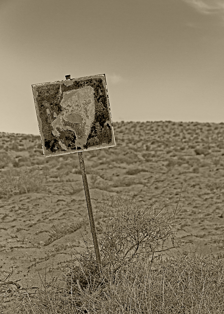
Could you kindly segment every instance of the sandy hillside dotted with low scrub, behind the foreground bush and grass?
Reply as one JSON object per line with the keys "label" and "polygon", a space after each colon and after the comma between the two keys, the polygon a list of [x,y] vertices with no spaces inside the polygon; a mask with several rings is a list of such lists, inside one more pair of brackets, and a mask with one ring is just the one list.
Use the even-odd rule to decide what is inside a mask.
{"label": "sandy hillside dotted with low scrub, behind the foreground bush and grass", "polygon": [[[83,153],[96,230],[105,228],[119,202],[176,208],[181,252],[190,255],[196,246],[198,254],[207,254],[211,246],[215,256],[221,254],[224,123],[115,122],[113,127],[116,147]],[[43,278],[62,278],[84,248],[85,235],[91,239],[78,154],[44,158],[39,136],[0,133],[2,282],[19,280],[31,293]],[[9,304],[13,308],[14,288],[0,287],[3,313]]]}

